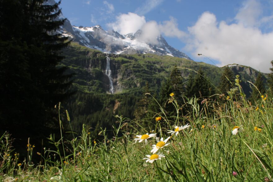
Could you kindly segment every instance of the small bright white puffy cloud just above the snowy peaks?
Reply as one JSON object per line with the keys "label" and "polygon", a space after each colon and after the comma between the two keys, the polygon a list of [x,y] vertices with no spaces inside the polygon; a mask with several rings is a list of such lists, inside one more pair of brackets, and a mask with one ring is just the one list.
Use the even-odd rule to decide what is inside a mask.
{"label": "small bright white puffy cloud just above the snowy peaks", "polygon": [[139,16],[135,13],[129,12],[128,14],[121,14],[116,18],[116,22],[109,23],[108,26],[114,31],[117,31],[123,35],[128,33],[135,33],[141,29],[146,23],[144,16]]}

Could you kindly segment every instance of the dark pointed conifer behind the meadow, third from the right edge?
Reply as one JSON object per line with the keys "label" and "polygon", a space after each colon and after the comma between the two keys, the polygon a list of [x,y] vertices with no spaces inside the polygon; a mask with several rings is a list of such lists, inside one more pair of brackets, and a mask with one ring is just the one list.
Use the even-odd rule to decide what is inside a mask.
{"label": "dark pointed conifer behind the meadow, third from the right edge", "polygon": [[235,76],[229,67],[225,67],[224,72],[220,78],[220,91],[224,94],[230,91],[235,85]]}

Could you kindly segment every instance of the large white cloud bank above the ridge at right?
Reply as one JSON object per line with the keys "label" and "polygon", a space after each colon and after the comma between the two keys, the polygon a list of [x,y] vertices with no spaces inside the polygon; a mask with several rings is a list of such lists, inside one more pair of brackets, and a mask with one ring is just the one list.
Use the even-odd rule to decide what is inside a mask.
{"label": "large white cloud bank above the ridge at right", "polygon": [[[252,0],[249,2],[253,3]],[[192,38],[186,48],[195,55],[201,53],[219,60],[220,66],[237,63],[268,73],[273,60],[273,32],[262,33],[255,27],[257,12],[253,11],[254,19],[244,19],[246,16],[242,16],[242,12],[243,9],[239,10],[238,22],[233,24],[218,23],[213,13],[204,12],[195,25],[188,28]]]}

